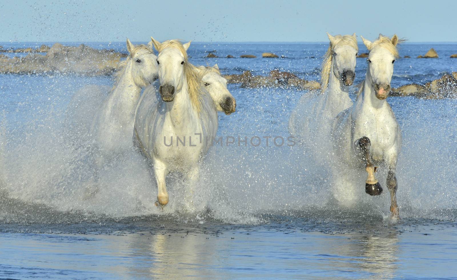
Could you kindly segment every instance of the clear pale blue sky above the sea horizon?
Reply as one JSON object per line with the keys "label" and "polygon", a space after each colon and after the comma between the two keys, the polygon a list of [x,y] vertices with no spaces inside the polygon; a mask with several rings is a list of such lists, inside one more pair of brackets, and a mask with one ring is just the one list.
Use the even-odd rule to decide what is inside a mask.
{"label": "clear pale blue sky above the sea horizon", "polygon": [[457,1],[2,1],[0,42],[326,42],[325,32],[457,42]]}

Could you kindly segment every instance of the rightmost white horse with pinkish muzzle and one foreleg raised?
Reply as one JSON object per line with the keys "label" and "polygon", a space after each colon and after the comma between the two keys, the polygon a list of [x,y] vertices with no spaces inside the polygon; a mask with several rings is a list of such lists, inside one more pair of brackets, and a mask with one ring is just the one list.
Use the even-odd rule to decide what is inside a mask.
{"label": "rightmost white horse with pinkish muzzle and one foreleg raised", "polygon": [[[400,127],[392,108],[386,101],[390,91],[393,74],[393,63],[399,57],[397,44],[399,38],[379,35],[370,42],[362,37],[363,43],[370,51],[367,58],[367,74],[359,91],[355,104],[341,112],[333,127],[335,152],[341,162],[334,174],[335,197],[341,202],[351,200],[350,189],[345,184],[350,169],[367,171],[365,191],[369,195],[380,195],[383,189],[375,177],[376,163],[388,166],[387,187],[390,191],[390,211],[392,218],[398,218],[397,178],[395,169],[401,146]],[[338,170],[340,169],[340,170]],[[350,183],[348,185],[351,185]]]}

